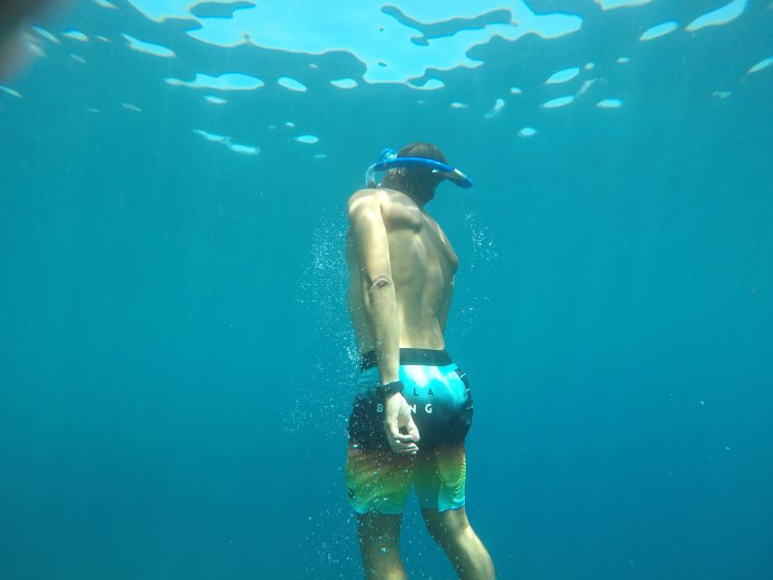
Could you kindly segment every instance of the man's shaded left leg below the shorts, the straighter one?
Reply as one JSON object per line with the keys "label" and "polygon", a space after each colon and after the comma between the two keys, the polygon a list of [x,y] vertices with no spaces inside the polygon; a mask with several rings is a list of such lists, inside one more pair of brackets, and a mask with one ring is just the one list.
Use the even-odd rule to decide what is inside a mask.
{"label": "man's shaded left leg below the shorts, the straighter one", "polygon": [[400,557],[402,516],[372,511],[357,517],[366,580],[405,580]]}

